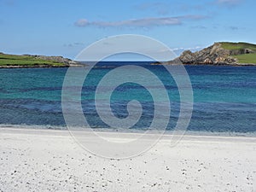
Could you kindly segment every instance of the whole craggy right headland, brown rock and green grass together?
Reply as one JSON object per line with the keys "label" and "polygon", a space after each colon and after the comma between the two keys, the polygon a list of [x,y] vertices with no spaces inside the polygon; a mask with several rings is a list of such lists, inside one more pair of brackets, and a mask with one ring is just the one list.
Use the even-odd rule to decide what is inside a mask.
{"label": "whole craggy right headland, brown rock and green grass together", "polygon": [[180,63],[188,65],[256,66],[256,44],[218,42],[194,53],[185,50],[172,61],[153,64],[173,65]]}

